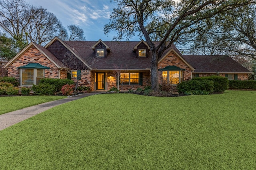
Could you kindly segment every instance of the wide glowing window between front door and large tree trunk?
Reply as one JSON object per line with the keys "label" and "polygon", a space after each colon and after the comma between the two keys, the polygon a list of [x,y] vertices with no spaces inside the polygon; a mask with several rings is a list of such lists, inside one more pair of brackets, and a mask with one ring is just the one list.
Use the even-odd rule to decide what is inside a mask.
{"label": "wide glowing window between front door and large tree trunk", "polygon": [[139,84],[139,73],[138,72],[122,72],[120,73],[120,84]]}

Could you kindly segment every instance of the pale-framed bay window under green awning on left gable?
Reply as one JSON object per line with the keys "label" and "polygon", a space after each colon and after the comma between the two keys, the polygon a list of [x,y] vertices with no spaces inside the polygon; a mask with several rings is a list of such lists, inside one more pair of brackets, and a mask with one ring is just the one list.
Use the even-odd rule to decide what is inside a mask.
{"label": "pale-framed bay window under green awning on left gable", "polygon": [[37,85],[44,78],[43,69],[20,69],[21,86]]}

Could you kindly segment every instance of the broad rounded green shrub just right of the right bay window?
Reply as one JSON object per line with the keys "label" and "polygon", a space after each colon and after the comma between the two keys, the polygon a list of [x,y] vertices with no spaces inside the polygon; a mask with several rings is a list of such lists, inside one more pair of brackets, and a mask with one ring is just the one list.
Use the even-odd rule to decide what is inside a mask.
{"label": "broad rounded green shrub just right of the right bay window", "polygon": [[211,80],[188,80],[177,85],[179,93],[183,94],[211,94],[214,92],[214,82]]}

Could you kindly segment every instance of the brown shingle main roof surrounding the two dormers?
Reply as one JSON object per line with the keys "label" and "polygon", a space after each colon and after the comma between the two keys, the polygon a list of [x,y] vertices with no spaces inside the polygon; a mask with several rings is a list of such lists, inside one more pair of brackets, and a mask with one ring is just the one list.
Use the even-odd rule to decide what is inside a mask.
{"label": "brown shingle main roof surrounding the two dormers", "polygon": [[[95,57],[94,50],[91,48],[97,41],[64,41],[70,48],[75,49],[81,58],[91,66],[90,61]],[[111,49],[106,58],[98,58],[98,61],[91,67],[98,70],[112,70],[112,69],[127,69],[127,70],[149,70],[151,68],[152,52],[150,51],[148,57],[136,57],[133,48],[139,41],[104,41]],[[154,42],[155,45],[158,42]],[[177,53],[180,54],[175,45],[172,45]],[[170,48],[170,49],[171,49]],[[164,56],[169,49],[162,55]],[[181,55],[181,54],[180,54]]]}

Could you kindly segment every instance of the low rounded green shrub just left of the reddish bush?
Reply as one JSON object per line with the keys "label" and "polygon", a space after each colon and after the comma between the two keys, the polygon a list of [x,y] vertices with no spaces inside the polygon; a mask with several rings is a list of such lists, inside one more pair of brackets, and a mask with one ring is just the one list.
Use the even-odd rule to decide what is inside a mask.
{"label": "low rounded green shrub just left of the reddish bush", "polygon": [[34,94],[37,95],[54,95],[56,93],[56,88],[51,84],[41,84],[32,86]]}

